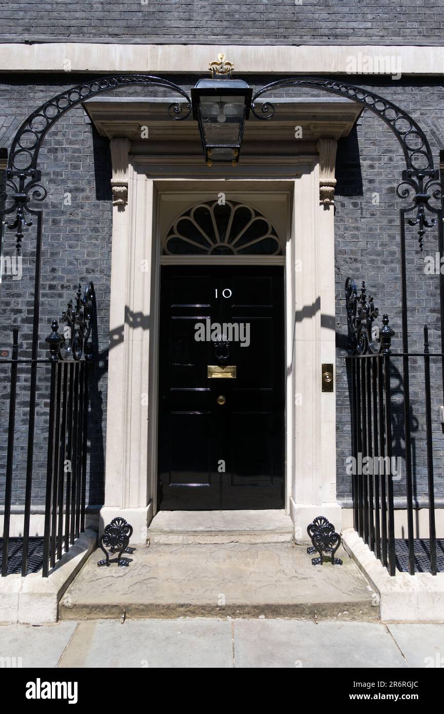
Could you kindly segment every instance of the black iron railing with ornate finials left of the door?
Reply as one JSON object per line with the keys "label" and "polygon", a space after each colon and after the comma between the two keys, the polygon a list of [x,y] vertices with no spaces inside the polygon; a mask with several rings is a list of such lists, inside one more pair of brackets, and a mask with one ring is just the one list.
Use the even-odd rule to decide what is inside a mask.
{"label": "black iron railing with ornate finials left of the door", "polygon": [[[0,548],[2,576],[9,573],[25,576],[41,570],[43,577],[47,577],[56,561],[84,531],[88,387],[93,363],[89,336],[94,313],[94,286],[89,283],[83,297],[79,288],[75,306],[69,303],[62,317],[64,336],[59,334],[59,324],[52,323],[51,335],[46,338],[49,360],[19,358],[17,328],[13,330],[11,359],[0,360],[2,370],[9,373],[4,524]],[[4,373],[4,383],[5,376]],[[49,403],[46,401],[48,394]],[[20,413],[22,422],[25,415],[31,438],[26,438],[17,428],[17,413]],[[46,439],[46,464],[42,463],[42,435]],[[22,481],[24,489],[21,488]],[[36,525],[33,506],[40,510],[44,507],[41,535],[34,534],[41,528]],[[11,516],[17,512],[20,526],[19,529],[14,526],[11,534]],[[30,533],[33,533],[31,537]]]}

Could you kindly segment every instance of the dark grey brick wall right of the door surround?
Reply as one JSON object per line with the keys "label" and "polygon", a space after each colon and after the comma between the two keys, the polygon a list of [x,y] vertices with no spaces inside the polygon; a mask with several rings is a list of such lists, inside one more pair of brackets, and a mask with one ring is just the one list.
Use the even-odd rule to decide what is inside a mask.
{"label": "dark grey brick wall right of the door surround", "polygon": [[[366,86],[356,79],[355,84]],[[373,87],[379,94],[398,104],[418,121],[425,130],[438,166],[439,150],[444,146],[443,84],[418,79],[378,82]],[[343,346],[347,333],[344,284],[350,275],[360,287],[365,280],[368,293],[383,313],[388,313],[395,330],[392,349],[401,351],[400,341],[400,254],[399,209],[405,206],[395,196],[405,164],[397,140],[378,117],[366,111],[355,131],[339,142],[336,164],[338,186],[335,206],[335,273],[336,273],[336,328],[337,366],[337,463],[338,498],[350,498],[350,477],[345,476],[345,458],[350,456],[350,403],[345,373]],[[410,204],[411,205],[411,204]],[[437,231],[425,236],[423,256],[418,250],[416,228],[407,229],[408,318],[410,351],[423,350],[423,326],[430,329],[430,351],[440,352],[440,324],[438,276],[424,274],[424,256],[438,250]],[[443,503],[443,433],[440,428],[439,406],[443,401],[439,361],[432,361],[432,418],[435,455],[435,493]],[[393,433],[394,454],[401,456],[404,449],[403,382],[400,358],[393,358]],[[441,384],[441,387],[440,387]],[[423,362],[410,361],[411,424],[413,443],[413,492],[415,498],[427,493],[425,486],[425,391]],[[405,463],[403,478],[395,483],[395,497],[405,493]]]}

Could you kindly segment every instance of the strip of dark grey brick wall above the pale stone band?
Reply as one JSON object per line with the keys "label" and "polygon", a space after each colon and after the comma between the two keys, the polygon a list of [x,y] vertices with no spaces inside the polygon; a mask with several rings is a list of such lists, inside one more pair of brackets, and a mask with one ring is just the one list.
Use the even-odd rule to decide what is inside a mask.
{"label": "strip of dark grey brick wall above the pale stone band", "polygon": [[1,3],[0,16],[0,35],[17,40],[440,44],[444,28],[438,0],[34,0]]}

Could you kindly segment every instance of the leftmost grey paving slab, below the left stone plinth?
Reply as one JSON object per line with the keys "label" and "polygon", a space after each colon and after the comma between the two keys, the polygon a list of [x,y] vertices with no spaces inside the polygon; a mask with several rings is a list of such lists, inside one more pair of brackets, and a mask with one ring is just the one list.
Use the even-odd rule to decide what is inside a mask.
{"label": "leftmost grey paving slab, below the left stone plinth", "polygon": [[56,667],[69,643],[75,622],[54,625],[1,625],[2,667]]}

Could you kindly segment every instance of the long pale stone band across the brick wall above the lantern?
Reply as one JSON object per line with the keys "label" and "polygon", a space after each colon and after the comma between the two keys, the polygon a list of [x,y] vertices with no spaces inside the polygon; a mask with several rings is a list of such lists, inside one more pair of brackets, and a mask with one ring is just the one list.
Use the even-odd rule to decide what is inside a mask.
{"label": "long pale stone band across the brick wall above the lantern", "polygon": [[[149,72],[203,74],[222,52],[236,74],[444,74],[444,46],[388,44],[122,44],[119,42],[0,42],[0,71]],[[393,67],[390,63],[393,62]],[[354,71],[353,71],[354,66]],[[393,69],[395,71],[393,71]],[[67,80],[69,81],[69,79]],[[396,81],[396,80],[393,80]],[[358,79],[356,79],[358,84]]]}

